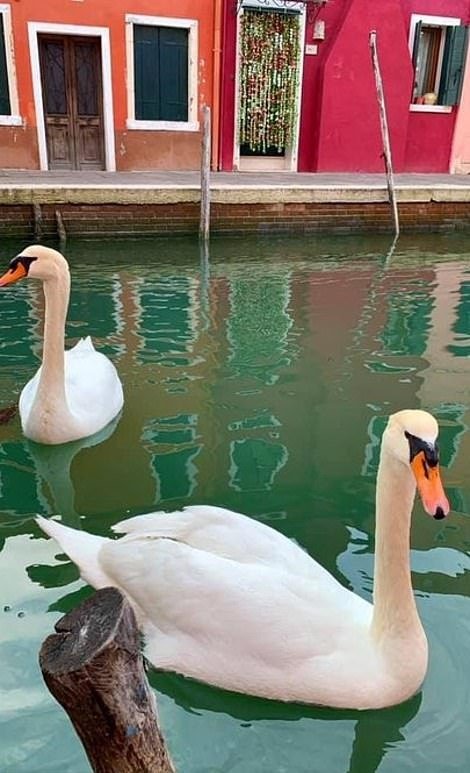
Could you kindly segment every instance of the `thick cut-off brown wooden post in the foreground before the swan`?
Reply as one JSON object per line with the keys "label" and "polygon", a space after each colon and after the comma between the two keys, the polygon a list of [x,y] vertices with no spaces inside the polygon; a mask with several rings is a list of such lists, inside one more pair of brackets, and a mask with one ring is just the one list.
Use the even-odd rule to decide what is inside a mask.
{"label": "thick cut-off brown wooden post in the foreground before the swan", "polygon": [[39,653],[42,675],[95,773],[174,773],[123,594],[97,591],[55,629]]}

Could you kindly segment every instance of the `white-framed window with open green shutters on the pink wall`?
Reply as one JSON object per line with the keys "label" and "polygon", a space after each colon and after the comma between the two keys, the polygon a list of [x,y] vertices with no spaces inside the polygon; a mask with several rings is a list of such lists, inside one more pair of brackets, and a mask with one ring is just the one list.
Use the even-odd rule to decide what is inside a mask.
{"label": "white-framed window with open green shutters on the pink wall", "polygon": [[467,39],[468,28],[460,19],[412,15],[412,109],[448,111],[459,104]]}

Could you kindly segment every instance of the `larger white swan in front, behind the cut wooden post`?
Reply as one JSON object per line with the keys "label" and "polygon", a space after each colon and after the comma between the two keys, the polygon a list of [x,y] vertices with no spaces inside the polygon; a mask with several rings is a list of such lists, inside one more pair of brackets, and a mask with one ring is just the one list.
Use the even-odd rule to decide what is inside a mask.
{"label": "larger white swan in front, behind the cut wooden post", "polygon": [[418,486],[443,518],[437,423],[392,415],[377,478],[374,604],[340,585],[283,535],[218,507],[130,518],[110,540],[38,518],[95,588],[121,588],[157,667],[281,701],[380,708],[415,693],[427,642],[411,586]]}

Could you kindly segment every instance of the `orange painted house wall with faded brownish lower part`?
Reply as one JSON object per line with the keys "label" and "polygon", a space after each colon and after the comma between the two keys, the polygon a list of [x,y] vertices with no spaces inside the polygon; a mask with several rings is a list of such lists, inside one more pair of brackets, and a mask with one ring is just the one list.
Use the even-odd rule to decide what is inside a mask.
{"label": "orange painted house wall with faded brownish lower part", "polygon": [[[28,22],[52,22],[108,27],[114,102],[116,168],[197,169],[199,132],[161,132],[126,129],[126,14],[196,19],[198,24],[199,111],[212,103],[214,0],[13,0],[11,3],[14,54],[20,115],[24,128],[0,127],[0,167],[37,168],[37,120],[28,43]],[[15,137],[13,138],[13,134]],[[16,152],[9,161],[8,147]],[[34,143],[34,146],[32,146]]]}

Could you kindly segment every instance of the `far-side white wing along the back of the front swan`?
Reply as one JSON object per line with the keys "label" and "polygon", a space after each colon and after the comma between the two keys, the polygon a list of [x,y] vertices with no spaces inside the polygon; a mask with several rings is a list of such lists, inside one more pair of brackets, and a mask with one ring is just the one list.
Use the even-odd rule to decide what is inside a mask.
{"label": "far-side white wing along the back of the front swan", "polygon": [[295,575],[336,580],[302,548],[254,518],[210,505],[191,505],[173,513],[148,513],[120,521],[114,531],[128,540],[168,537],[240,563],[266,564]]}

